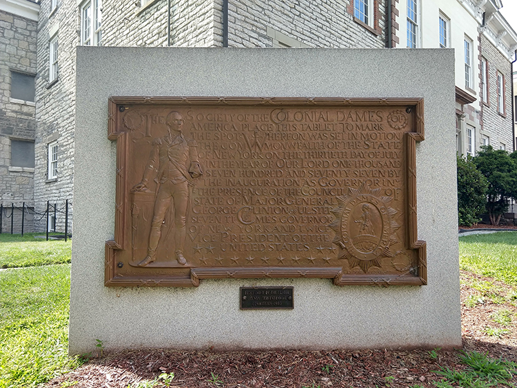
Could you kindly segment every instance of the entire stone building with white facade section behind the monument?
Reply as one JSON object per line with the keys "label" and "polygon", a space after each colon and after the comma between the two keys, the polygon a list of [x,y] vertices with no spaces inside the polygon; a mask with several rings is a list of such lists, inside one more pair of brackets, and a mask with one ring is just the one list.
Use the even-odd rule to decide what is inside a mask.
{"label": "entire stone building with white facade section behind the monument", "polygon": [[[1,170],[0,164],[0,173],[16,172],[14,180],[19,178],[19,182],[28,179],[36,212],[45,212],[48,201],[57,204],[58,211],[51,212],[48,223],[50,229],[60,232],[64,230],[65,201],[72,200],[78,45],[455,48],[458,152],[474,154],[483,143],[514,149],[510,62],[517,35],[500,16],[499,0],[40,0],[39,4],[0,0],[0,4],[13,1],[34,8],[32,20],[25,19],[31,33],[37,27],[37,47],[26,53],[32,58],[26,67],[2,63],[6,69],[1,68],[0,77],[11,70],[35,74],[35,98],[13,104],[6,90],[10,84],[2,81],[0,114],[14,106],[25,114],[30,111],[37,125],[32,134],[4,136],[2,130],[0,163],[8,159],[4,157],[6,144],[14,138],[15,142],[34,140],[35,158],[33,167],[19,167],[21,171],[9,171],[8,167],[15,167],[10,165]],[[4,12],[1,17],[8,19],[1,19],[0,25],[6,31],[0,35],[5,35],[5,41],[20,26],[10,16],[12,10],[0,9]],[[38,14],[37,21],[34,14]],[[34,49],[34,44],[30,48]],[[145,68],[141,71],[145,76]],[[164,64],[164,71],[174,70]],[[174,94],[171,85],[170,95]],[[4,191],[14,192],[10,188]],[[44,230],[46,218],[38,216],[34,223]]]}

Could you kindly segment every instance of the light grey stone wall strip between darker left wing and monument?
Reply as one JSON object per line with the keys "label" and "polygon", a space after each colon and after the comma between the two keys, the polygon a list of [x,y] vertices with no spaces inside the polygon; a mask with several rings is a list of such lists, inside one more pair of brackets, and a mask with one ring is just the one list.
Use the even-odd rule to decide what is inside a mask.
{"label": "light grey stone wall strip between darker left wing and monument", "polygon": [[[50,0],[41,1],[37,44],[36,119],[37,136],[34,172],[34,207],[46,210],[50,203],[72,199],[74,182],[75,130],[75,48],[79,45],[79,6],[76,0],[58,0],[51,13]],[[49,83],[50,34],[58,37],[58,76]],[[53,35],[54,36],[54,35]],[[57,178],[48,179],[48,144],[57,141]],[[34,221],[37,231],[45,230],[46,218]],[[64,229],[64,217],[57,217],[57,229]]]}

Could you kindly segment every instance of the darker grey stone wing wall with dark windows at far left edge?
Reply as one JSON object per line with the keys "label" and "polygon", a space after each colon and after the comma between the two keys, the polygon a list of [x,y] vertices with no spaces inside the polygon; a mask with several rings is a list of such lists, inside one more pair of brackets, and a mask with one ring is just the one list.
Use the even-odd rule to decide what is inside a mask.
{"label": "darker grey stone wing wall with dark windows at far left edge", "polygon": [[[37,22],[0,11],[0,203],[32,206],[34,168],[11,165],[11,140],[34,141],[34,102],[12,99],[11,72],[36,74]],[[27,229],[28,230],[28,229]],[[28,230],[29,231],[29,230]]]}

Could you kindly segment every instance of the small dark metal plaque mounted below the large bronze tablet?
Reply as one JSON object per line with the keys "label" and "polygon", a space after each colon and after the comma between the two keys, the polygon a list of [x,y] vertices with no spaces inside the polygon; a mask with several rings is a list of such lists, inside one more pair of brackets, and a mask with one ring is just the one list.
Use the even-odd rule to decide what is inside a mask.
{"label": "small dark metal plaque mounted below the large bronze tablet", "polygon": [[241,287],[241,310],[292,309],[293,287]]}

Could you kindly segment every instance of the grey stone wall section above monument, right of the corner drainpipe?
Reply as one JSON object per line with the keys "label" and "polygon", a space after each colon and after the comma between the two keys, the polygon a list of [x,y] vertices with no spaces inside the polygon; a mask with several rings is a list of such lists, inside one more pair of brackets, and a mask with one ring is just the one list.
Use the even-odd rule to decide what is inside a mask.
{"label": "grey stone wall section above monument, right of the corner drainpipe", "polygon": [[383,48],[385,1],[374,1],[375,32],[355,22],[352,0],[228,0],[228,46],[272,47],[267,27],[314,48]]}

